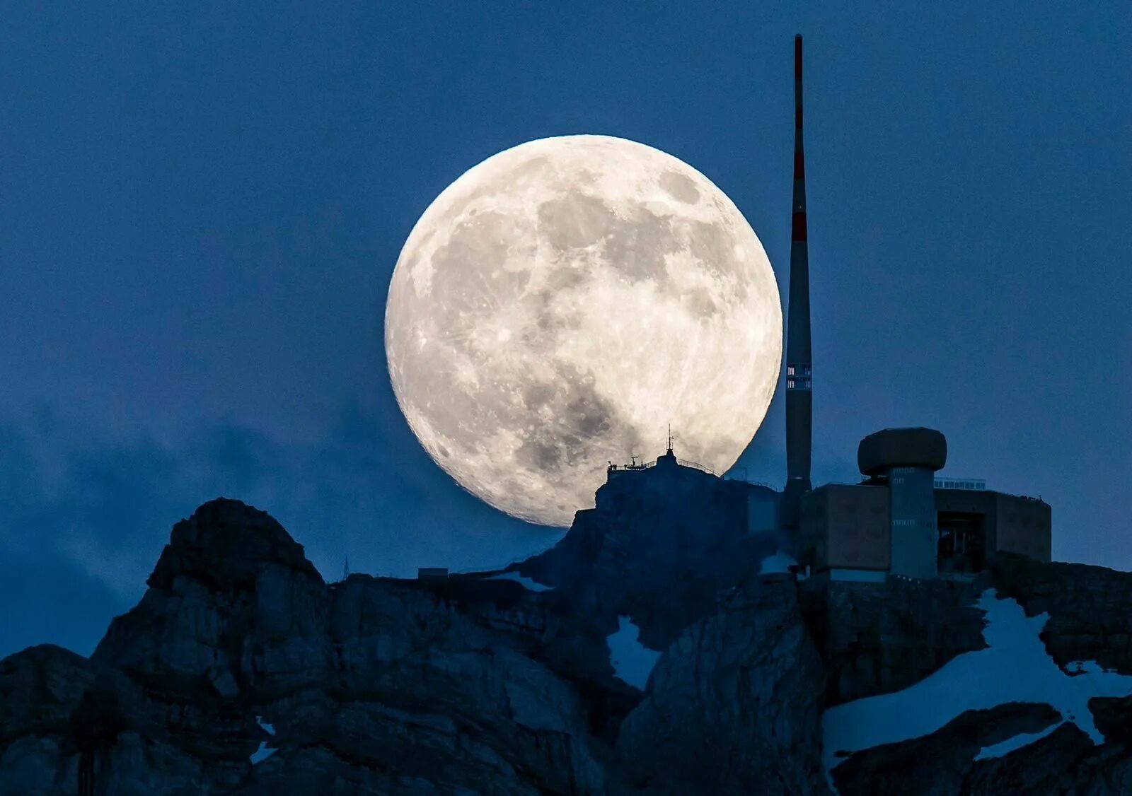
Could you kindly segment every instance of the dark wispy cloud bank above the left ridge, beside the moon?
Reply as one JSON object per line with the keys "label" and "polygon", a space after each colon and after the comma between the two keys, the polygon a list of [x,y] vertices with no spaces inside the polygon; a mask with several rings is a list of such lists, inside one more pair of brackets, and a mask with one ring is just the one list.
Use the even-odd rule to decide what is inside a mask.
{"label": "dark wispy cloud bank above the left ridge, beside the moon", "polygon": [[50,413],[0,425],[0,604],[16,615],[0,655],[91,651],[140,597],[172,525],[218,495],[276,517],[328,579],[346,555],[353,571],[411,576],[503,565],[558,538],[464,493],[408,434],[358,406],[301,443],[229,422],[175,443],[100,440]]}

